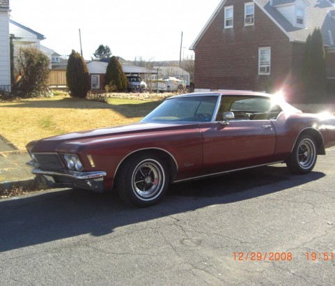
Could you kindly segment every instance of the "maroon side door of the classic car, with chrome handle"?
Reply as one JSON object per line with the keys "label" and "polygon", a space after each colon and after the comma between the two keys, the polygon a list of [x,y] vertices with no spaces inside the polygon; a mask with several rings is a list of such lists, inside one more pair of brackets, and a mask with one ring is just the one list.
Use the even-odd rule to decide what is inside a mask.
{"label": "maroon side door of the classic car, with chrome handle", "polygon": [[[233,104],[228,106],[230,111],[234,110]],[[235,110],[236,114],[238,112]],[[203,174],[272,163],[276,146],[272,119],[264,119],[262,116],[249,119],[251,113],[248,110],[243,113],[246,114],[245,118],[233,119],[226,125],[218,121],[201,124]]]}

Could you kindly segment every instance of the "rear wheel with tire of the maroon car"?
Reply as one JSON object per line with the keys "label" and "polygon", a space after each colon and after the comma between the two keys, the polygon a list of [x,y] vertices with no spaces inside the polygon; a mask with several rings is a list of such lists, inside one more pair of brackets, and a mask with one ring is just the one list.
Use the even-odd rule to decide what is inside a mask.
{"label": "rear wheel with tire of the maroon car", "polygon": [[298,138],[286,165],[295,174],[306,174],[313,170],[318,157],[315,141],[309,135]]}

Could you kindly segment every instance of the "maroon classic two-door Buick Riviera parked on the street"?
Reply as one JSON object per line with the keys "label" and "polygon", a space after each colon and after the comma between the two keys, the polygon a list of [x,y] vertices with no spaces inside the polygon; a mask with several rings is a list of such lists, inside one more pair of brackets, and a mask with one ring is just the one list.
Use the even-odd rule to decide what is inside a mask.
{"label": "maroon classic two-door Buick Riviera parked on the street", "polygon": [[[286,163],[311,172],[335,144],[335,117],[304,114],[279,96],[247,91],[173,96],[139,123],[33,141],[33,174],[51,187],[115,188],[135,206],[169,183]],[[205,192],[205,190],[203,190]]]}

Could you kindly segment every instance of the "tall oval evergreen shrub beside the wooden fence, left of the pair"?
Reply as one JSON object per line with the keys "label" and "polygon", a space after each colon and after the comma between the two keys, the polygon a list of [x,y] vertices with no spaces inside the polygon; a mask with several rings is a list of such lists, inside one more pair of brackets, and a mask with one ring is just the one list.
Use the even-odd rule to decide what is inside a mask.
{"label": "tall oval evergreen shrub beside the wooden fence, left of the pair", "polygon": [[81,54],[72,50],[66,68],[66,83],[70,96],[85,98],[90,90],[90,75]]}

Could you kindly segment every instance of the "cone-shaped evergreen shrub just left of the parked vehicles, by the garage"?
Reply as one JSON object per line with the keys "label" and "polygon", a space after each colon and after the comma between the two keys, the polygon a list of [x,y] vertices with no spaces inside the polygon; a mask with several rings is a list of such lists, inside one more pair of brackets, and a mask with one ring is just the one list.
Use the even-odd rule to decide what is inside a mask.
{"label": "cone-shaped evergreen shrub just left of the parked vehicles, by the garage", "polygon": [[109,59],[106,70],[106,85],[115,86],[116,91],[125,91],[127,89],[127,77],[123,73],[122,66],[115,56]]}

